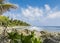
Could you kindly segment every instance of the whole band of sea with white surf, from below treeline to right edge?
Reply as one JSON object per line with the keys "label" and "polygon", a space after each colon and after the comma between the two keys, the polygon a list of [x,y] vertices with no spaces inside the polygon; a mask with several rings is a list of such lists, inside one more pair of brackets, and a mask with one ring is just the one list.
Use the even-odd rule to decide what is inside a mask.
{"label": "whole band of sea with white surf, from below treeline to right edge", "polygon": [[16,29],[29,29],[37,31],[60,32],[60,26],[18,26]]}

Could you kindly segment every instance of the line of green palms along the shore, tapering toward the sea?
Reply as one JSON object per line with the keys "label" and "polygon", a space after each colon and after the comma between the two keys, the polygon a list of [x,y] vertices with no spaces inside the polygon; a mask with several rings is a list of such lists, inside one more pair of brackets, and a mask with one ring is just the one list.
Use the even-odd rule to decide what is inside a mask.
{"label": "line of green palms along the shore, tapering toward the sea", "polygon": [[6,16],[0,16],[0,25],[1,26],[30,26],[26,22],[9,19],[9,17]]}

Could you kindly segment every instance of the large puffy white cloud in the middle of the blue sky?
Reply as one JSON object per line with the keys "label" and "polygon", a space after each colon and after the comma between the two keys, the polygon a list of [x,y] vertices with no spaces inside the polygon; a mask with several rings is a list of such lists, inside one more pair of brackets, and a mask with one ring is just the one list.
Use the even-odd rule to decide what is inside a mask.
{"label": "large puffy white cloud in the middle of the blue sky", "polygon": [[37,7],[34,8],[34,7],[29,6],[26,9],[22,9],[22,14],[27,18],[35,19],[35,17],[43,16],[43,10]]}

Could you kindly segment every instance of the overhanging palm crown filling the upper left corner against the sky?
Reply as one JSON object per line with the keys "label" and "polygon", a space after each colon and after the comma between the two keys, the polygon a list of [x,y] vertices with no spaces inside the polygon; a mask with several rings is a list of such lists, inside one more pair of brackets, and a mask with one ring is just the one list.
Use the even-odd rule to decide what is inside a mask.
{"label": "overhanging palm crown filling the upper left corner against the sky", "polygon": [[11,8],[16,9],[17,6],[15,6],[14,4],[10,4],[10,3],[5,3],[5,0],[0,0],[0,15],[2,15],[3,13],[10,11]]}

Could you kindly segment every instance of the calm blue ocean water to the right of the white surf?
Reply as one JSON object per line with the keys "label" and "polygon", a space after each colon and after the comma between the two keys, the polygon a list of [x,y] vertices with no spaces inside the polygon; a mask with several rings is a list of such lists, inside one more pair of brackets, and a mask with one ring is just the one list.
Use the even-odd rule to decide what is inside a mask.
{"label": "calm blue ocean water to the right of the white surf", "polygon": [[49,32],[60,32],[60,26],[40,26],[39,28]]}

